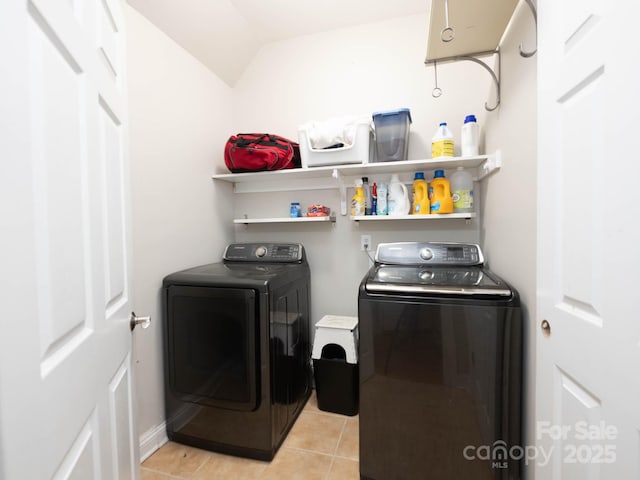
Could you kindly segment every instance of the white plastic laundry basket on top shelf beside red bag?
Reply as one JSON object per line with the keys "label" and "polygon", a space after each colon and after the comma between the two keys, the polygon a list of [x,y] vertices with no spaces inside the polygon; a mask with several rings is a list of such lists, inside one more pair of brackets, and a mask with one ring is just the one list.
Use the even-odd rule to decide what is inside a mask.
{"label": "white plastic laundry basket on top shelf beside red bag", "polygon": [[373,154],[370,125],[371,123],[368,121],[356,124],[353,145],[328,149],[312,148],[307,127],[300,127],[298,143],[300,143],[302,168],[343,165],[345,163],[369,163]]}

